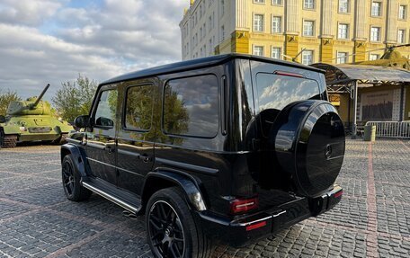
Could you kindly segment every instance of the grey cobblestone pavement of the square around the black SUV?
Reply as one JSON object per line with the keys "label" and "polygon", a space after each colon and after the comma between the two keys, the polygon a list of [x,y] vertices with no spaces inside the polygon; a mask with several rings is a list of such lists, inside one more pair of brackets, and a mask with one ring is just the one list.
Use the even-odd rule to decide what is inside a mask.
{"label": "grey cobblestone pavement of the square around the black SUV", "polygon": [[[347,141],[341,203],[213,257],[410,257],[410,141]],[[151,257],[143,218],[93,195],[68,201],[59,147],[0,149],[0,257]]]}

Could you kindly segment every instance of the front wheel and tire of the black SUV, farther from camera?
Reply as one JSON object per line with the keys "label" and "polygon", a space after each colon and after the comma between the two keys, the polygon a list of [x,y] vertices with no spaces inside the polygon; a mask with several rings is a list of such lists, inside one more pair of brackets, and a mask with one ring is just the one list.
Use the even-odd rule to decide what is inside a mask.
{"label": "front wheel and tire of the black SUV, farther from camera", "polygon": [[80,183],[80,173],[76,171],[76,166],[71,155],[63,158],[61,164],[61,176],[64,192],[68,200],[81,201],[90,198],[92,191],[85,189]]}

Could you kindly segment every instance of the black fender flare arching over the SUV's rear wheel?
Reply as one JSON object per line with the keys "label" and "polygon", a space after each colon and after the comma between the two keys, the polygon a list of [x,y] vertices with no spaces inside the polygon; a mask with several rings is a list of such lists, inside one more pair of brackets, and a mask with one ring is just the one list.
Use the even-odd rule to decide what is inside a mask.
{"label": "black fender flare arching over the SUV's rear wheel", "polygon": [[165,187],[172,185],[181,187],[186,195],[186,200],[188,201],[188,204],[192,207],[192,209],[195,209],[197,211],[203,211],[207,209],[205,200],[200,191],[200,186],[192,178],[192,176],[177,171],[170,171],[169,169],[167,169],[166,171],[161,170],[147,173],[147,179],[144,182],[141,198],[142,205],[144,207],[147,205],[147,201],[155,191],[164,188],[157,186],[155,182],[158,181],[168,182],[168,185],[165,185]]}

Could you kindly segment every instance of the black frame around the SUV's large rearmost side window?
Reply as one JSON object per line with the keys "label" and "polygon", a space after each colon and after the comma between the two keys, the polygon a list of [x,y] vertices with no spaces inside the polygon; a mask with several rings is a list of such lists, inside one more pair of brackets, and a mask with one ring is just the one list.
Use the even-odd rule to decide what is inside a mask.
{"label": "black frame around the SUV's large rearmost side window", "polygon": [[[216,127],[216,132],[213,136],[196,136],[196,135],[191,135],[191,134],[174,134],[174,133],[170,133],[167,132],[165,130],[165,126],[164,126],[164,118],[165,118],[165,87],[166,85],[168,85],[168,83],[170,81],[174,81],[174,80],[181,80],[181,79],[187,79],[187,78],[192,78],[192,77],[202,77],[202,76],[214,76],[216,78],[216,83],[217,83],[217,102],[218,102],[218,111],[217,111],[217,116],[218,116],[218,124]],[[205,74],[198,74],[198,75],[193,75],[193,76],[178,76],[178,77],[173,77],[173,78],[168,78],[165,80],[164,85],[162,87],[162,93],[161,93],[161,118],[160,118],[160,128],[161,128],[161,132],[165,135],[165,136],[171,136],[171,137],[175,137],[175,138],[216,138],[219,135],[220,129],[221,129],[221,87],[222,85],[220,85],[219,82],[219,77],[217,74],[214,73],[205,73]]]}

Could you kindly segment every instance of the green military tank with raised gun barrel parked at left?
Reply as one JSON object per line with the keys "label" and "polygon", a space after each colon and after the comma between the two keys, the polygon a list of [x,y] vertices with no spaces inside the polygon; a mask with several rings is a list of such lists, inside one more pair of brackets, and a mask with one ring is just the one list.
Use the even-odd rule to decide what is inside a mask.
{"label": "green military tank with raised gun barrel parked at left", "polygon": [[49,89],[47,85],[38,98],[10,102],[5,117],[0,115],[0,147],[15,147],[28,141],[48,141],[62,144],[73,130],[66,121],[51,115],[49,102],[41,98]]}

